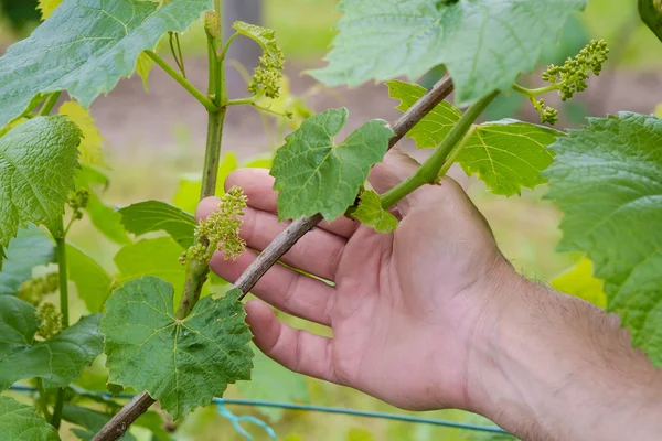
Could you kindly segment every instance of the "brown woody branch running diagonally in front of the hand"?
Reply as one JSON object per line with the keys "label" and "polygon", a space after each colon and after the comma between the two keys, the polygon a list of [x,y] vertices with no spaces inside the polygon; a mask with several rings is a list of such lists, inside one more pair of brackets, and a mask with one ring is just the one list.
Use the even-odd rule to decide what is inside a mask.
{"label": "brown woody branch running diagonally in front of the hand", "polygon": [[[393,125],[395,135],[388,142],[388,149],[393,148],[414,126],[416,126],[427,114],[452,92],[452,80],[447,75],[441,78],[425,96],[404,112]],[[321,214],[301,217],[292,222],[282,233],[267,246],[255,261],[246,268],[244,273],[235,282],[245,293],[250,291],[255,283],[282,257],[306,233],[310,232],[323,219]],[[120,438],[129,426],[154,404],[154,399],[148,392],[134,397],[104,428],[93,438],[93,441],[114,441]]]}

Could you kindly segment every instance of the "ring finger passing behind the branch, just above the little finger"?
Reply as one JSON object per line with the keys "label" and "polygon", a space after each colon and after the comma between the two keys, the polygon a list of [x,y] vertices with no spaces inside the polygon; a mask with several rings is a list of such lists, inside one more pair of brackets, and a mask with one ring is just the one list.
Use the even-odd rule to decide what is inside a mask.
{"label": "ring finger passing behind the branch, just above the little finger", "polygon": [[[210,268],[234,283],[256,258],[250,250],[243,252],[237,260],[225,260],[221,252],[216,252]],[[331,324],[329,311],[335,299],[335,290],[281,265],[273,266],[252,292],[288,314],[327,326]]]}

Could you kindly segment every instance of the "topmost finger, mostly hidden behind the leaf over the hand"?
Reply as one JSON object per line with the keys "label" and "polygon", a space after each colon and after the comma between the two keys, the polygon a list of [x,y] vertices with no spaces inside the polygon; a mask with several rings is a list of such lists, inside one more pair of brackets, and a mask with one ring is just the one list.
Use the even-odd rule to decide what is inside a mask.
{"label": "topmost finger, mostly hidden behind the leaf over the hand", "polygon": [[[241,186],[248,197],[248,205],[264,212],[277,213],[276,198],[278,193],[274,190],[274,176],[267,169],[239,169],[232,172],[225,180],[225,190]],[[360,223],[339,217],[332,223],[322,222],[318,226],[339,236],[349,238],[354,234]]]}

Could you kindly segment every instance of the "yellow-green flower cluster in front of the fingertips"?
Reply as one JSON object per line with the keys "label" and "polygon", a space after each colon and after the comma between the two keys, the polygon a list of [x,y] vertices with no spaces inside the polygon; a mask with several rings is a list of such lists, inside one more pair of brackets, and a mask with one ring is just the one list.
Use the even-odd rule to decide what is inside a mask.
{"label": "yellow-green flower cluster in front of the fingertips", "polygon": [[226,259],[236,260],[246,249],[239,237],[241,217],[246,208],[246,196],[242,189],[233,186],[218,203],[218,209],[200,220],[195,228],[195,245],[180,257],[180,262],[197,260],[209,262],[214,251],[223,251]]}

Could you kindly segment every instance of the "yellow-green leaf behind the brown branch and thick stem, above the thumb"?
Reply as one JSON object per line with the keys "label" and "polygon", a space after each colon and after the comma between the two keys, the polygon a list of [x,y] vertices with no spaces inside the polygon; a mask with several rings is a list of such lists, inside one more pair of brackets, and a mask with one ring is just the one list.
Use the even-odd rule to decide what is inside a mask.
{"label": "yellow-green leaf behind the brown branch and thick stem, above the thumb", "polygon": [[[397,108],[406,111],[426,90],[416,85],[388,82]],[[452,105],[441,101],[407,136],[418,148],[435,148],[448,135],[462,114]],[[545,183],[541,172],[552,163],[547,146],[564,133],[548,127],[513,119],[485,122],[476,127],[473,136],[456,158],[469,175],[478,174],[495,194],[512,196],[521,187],[533,189]]]}

